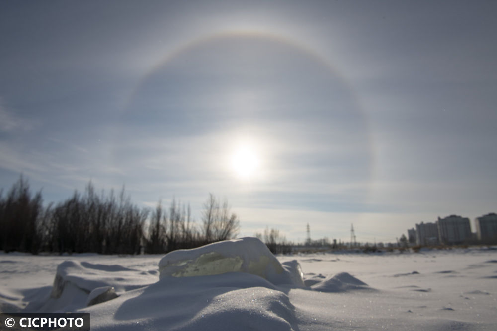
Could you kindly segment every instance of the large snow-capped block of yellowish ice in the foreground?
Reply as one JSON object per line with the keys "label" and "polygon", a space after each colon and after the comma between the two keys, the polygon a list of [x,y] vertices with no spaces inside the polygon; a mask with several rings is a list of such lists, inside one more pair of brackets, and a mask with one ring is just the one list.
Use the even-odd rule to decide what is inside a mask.
{"label": "large snow-capped block of yellowish ice in the foreground", "polygon": [[170,252],[159,262],[159,272],[160,279],[246,272],[273,284],[304,287],[302,270],[297,261],[281,265],[266,245],[253,237]]}

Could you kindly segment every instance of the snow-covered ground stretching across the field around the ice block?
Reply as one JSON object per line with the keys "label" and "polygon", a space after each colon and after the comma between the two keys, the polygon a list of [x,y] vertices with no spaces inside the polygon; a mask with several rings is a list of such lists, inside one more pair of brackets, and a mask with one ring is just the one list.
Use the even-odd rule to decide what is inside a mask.
{"label": "snow-covered ground stretching across the field around the ice block", "polygon": [[87,312],[91,330],[497,330],[497,250],[273,260],[229,245],[167,258],[0,253],[0,311]]}

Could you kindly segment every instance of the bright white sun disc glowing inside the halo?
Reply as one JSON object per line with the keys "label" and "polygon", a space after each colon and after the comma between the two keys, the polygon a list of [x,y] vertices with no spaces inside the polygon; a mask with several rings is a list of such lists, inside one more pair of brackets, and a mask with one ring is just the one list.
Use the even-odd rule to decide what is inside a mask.
{"label": "bright white sun disc glowing inside the halo", "polygon": [[257,175],[260,159],[256,149],[249,144],[236,147],[231,156],[231,167],[238,178],[249,180]]}

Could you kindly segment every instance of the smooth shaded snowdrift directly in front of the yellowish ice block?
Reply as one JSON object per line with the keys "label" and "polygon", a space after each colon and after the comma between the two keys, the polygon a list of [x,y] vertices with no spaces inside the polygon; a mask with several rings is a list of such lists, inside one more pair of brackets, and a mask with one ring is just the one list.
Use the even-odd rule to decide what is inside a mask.
{"label": "smooth shaded snowdrift directly in front of the yellowish ice block", "polygon": [[299,330],[289,296],[244,272],[165,277],[79,312],[94,331]]}

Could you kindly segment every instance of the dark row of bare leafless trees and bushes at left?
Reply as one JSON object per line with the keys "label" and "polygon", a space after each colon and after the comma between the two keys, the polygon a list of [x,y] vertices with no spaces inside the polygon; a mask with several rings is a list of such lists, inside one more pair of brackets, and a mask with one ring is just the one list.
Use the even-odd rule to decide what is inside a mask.
{"label": "dark row of bare leafless trees and bushes at left", "polygon": [[232,239],[240,228],[228,202],[212,194],[201,223],[190,206],[172,201],[154,210],[138,207],[124,188],[98,194],[88,183],[83,194],[43,206],[41,191],[33,194],[22,176],[3,196],[0,191],[0,250],[100,254],[157,254]]}

